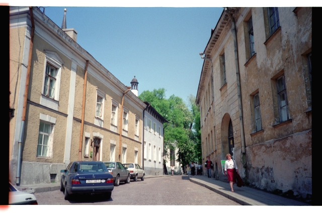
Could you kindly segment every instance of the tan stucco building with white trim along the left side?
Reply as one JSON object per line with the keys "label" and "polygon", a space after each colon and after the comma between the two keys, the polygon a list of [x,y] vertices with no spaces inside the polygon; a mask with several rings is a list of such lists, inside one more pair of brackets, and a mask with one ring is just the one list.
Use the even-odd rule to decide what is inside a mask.
{"label": "tan stucco building with white trim along the left side", "polygon": [[60,170],[79,158],[142,162],[146,104],[76,34],[36,7],[10,7],[11,182],[58,182]]}

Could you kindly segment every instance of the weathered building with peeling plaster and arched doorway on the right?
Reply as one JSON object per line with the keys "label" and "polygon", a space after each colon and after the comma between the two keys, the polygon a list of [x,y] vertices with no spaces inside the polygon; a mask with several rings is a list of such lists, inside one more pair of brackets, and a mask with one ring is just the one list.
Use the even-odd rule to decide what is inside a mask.
{"label": "weathered building with peeling plaster and arched doorway on the right", "polygon": [[247,184],[312,194],[312,8],[225,8],[203,53],[203,162],[230,153]]}

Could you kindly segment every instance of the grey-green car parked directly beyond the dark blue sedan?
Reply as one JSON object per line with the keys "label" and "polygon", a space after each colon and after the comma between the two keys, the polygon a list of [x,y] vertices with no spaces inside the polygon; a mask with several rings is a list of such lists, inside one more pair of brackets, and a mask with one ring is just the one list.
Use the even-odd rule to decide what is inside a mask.
{"label": "grey-green car parked directly beyond the dark blue sedan", "polygon": [[109,172],[113,175],[114,186],[119,186],[120,182],[130,183],[130,171],[120,162],[104,162]]}

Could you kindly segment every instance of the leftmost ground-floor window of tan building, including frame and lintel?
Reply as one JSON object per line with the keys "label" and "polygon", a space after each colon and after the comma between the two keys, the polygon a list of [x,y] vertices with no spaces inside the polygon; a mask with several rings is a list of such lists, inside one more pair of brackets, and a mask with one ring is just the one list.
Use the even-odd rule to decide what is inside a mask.
{"label": "leftmost ground-floor window of tan building, including frame and lintel", "polygon": [[37,157],[52,158],[52,144],[56,118],[40,113]]}

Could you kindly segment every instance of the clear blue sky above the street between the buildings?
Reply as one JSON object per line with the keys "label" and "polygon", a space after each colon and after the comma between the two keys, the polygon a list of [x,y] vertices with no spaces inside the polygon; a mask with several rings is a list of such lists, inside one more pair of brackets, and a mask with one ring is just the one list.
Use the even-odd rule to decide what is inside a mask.
{"label": "clear blue sky above the street between the buildings", "polygon": [[[45,7],[61,27],[65,7]],[[77,43],[139,94],[166,88],[185,101],[197,94],[203,52],[223,8],[66,7]]]}

